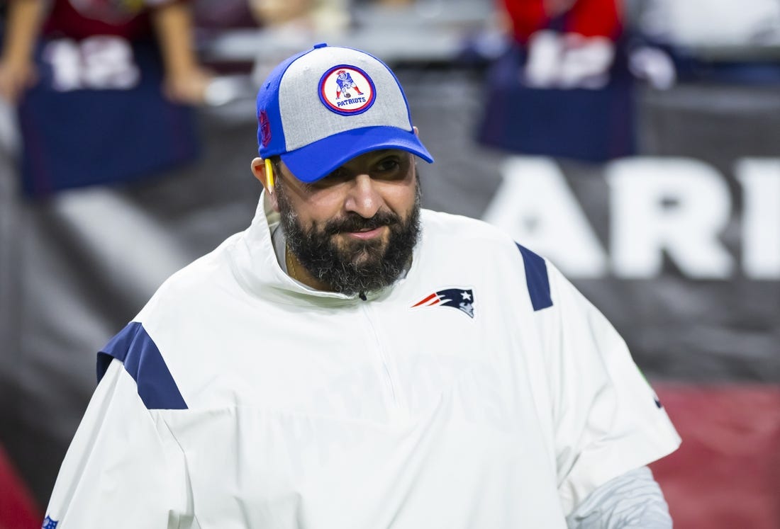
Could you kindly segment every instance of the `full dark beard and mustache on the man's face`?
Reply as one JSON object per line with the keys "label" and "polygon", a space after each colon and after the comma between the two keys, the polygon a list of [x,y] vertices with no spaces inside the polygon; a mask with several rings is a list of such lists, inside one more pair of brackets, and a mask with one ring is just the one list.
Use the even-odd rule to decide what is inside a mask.
{"label": "full dark beard and mustache on the man's face", "polygon": [[[370,219],[349,213],[347,217],[309,228],[300,225],[283,186],[277,184],[275,191],[289,251],[313,277],[333,291],[354,295],[380,290],[395,283],[410,262],[420,236],[419,182],[406,220],[389,211],[378,212]],[[339,233],[380,226],[389,229],[386,246],[382,240],[353,240],[346,245],[335,242],[334,235]]]}

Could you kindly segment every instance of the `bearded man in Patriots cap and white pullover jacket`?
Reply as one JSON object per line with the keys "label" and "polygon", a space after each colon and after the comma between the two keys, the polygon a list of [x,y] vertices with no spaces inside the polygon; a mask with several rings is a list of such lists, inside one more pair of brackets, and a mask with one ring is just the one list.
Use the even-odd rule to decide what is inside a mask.
{"label": "bearded man in Patriots cap and white pullover jacket", "polygon": [[420,209],[387,65],[317,44],[257,119],[254,221],[98,354],[48,524],[671,527],[645,465],[679,437],[626,345],[540,256]]}

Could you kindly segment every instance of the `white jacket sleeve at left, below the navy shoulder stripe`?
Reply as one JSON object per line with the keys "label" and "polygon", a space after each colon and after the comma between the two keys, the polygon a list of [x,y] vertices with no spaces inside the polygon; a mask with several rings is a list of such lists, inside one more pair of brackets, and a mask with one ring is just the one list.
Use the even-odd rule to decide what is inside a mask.
{"label": "white jacket sleeve at left, below the navy shoulder stripe", "polygon": [[176,439],[144,404],[126,365],[109,360],[60,468],[46,522],[58,529],[197,527]]}

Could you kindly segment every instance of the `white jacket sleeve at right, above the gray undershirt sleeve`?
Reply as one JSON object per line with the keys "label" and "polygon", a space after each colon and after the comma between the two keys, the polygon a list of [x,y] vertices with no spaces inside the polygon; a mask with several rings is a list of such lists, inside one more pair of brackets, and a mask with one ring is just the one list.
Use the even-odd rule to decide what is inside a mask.
{"label": "white jacket sleeve at right, above the gray undershirt sleeve", "polygon": [[545,264],[550,298],[538,316],[568,515],[597,487],[671,453],[680,439],[615,328]]}

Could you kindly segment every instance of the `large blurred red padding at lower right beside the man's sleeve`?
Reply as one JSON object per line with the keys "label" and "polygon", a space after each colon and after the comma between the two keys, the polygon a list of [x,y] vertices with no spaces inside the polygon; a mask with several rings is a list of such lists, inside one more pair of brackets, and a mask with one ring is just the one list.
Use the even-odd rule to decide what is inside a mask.
{"label": "large blurred red padding at lower right beside the man's sleeve", "polygon": [[654,384],[683,444],[651,465],[675,529],[780,527],[780,388]]}

